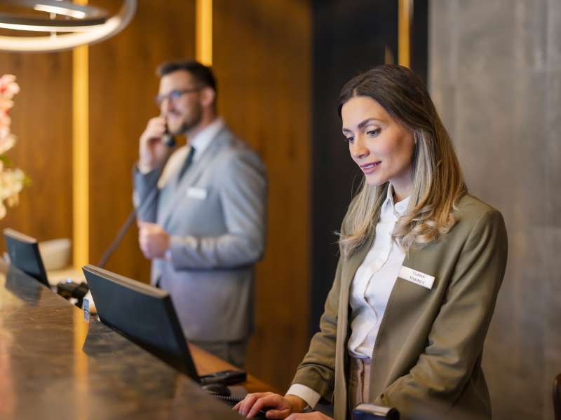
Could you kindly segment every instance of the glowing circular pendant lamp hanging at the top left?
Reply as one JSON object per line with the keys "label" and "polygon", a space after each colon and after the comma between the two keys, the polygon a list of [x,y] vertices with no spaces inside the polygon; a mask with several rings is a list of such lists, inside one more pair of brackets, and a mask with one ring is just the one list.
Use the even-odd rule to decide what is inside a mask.
{"label": "glowing circular pendant lamp hanging at the top left", "polygon": [[123,0],[119,13],[108,16],[101,8],[68,0],[4,0],[2,3],[48,13],[48,18],[38,14],[0,13],[0,28],[50,32],[44,36],[0,36],[0,50],[13,52],[62,51],[103,41],[128,25],[137,6],[137,0]]}

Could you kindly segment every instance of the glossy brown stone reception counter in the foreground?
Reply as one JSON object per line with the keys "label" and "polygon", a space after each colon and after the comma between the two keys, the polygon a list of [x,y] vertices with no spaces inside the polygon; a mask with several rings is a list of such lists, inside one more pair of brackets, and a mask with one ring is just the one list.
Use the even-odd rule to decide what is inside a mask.
{"label": "glossy brown stone reception counter in the foreground", "polygon": [[[0,262],[0,419],[241,419],[92,318]],[[191,351],[199,374],[231,367]],[[250,377],[248,389],[266,385]]]}

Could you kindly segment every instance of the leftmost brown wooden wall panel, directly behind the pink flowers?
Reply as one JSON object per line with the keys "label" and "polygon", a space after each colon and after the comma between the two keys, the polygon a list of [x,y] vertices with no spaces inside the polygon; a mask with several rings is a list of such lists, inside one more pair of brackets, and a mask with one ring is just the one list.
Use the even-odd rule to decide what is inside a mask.
{"label": "leftmost brown wooden wall panel, directly behind the pink flowers", "polygon": [[0,229],[72,239],[72,53],[1,52],[0,73],[15,74],[21,88],[11,111],[18,144],[8,156],[33,182]]}

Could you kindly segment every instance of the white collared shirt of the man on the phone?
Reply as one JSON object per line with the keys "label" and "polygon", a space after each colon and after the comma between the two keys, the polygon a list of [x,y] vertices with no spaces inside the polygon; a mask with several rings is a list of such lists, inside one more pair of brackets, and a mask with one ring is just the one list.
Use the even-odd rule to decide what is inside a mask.
{"label": "white collared shirt of the man on the phone", "polygon": [[207,125],[203,130],[198,132],[196,136],[192,139],[189,139],[189,144],[185,146],[181,146],[171,155],[168,162],[165,164],[163,168],[163,172],[160,176],[160,180],[158,181],[158,187],[163,188],[165,182],[168,179],[173,178],[175,174],[180,170],[181,166],[183,165],[183,161],[187,158],[187,154],[191,149],[191,146],[195,148],[195,154],[193,155],[193,162],[196,162],[201,158],[204,151],[210,145],[210,141],[216,137],[216,134],[224,127],[224,120],[222,118],[217,118],[216,120],[212,121],[209,125]]}

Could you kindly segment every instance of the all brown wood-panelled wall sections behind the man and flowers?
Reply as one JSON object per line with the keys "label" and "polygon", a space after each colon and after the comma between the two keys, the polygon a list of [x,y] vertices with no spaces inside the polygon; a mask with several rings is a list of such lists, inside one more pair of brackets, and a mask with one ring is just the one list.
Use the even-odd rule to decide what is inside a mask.
{"label": "all brown wood-panelled wall sections behind the man and flowers", "polygon": [[[121,6],[93,3],[110,13]],[[262,156],[269,174],[269,232],[257,267],[257,330],[247,369],[282,390],[309,337],[311,5],[212,3],[219,113]],[[196,0],[139,0],[130,25],[90,45],[88,54],[88,260],[95,264],[132,209],[138,138],[159,112],[156,66],[196,55]],[[33,181],[0,228],[39,241],[73,237],[74,69],[72,52],[0,53],[0,73],[15,74],[21,87],[11,113],[19,143],[9,155]],[[148,281],[149,262],[138,248],[135,226],[107,269]]]}

